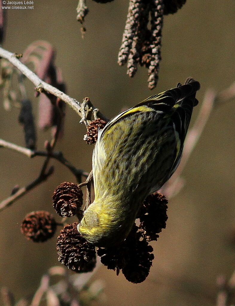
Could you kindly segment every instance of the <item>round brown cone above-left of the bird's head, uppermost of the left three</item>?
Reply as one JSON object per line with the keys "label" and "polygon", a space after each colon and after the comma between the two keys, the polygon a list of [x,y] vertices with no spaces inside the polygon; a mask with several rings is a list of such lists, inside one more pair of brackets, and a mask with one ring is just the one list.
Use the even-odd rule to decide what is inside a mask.
{"label": "round brown cone above-left of the bird's head, uppermost of the left three", "polygon": [[61,217],[72,217],[83,203],[81,188],[74,183],[64,182],[55,188],[52,196],[53,207]]}

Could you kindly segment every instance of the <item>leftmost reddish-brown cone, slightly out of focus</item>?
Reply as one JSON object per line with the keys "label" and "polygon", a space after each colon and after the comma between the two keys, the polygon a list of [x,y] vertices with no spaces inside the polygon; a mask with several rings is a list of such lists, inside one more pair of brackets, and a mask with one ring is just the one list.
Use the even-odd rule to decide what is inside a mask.
{"label": "leftmost reddish-brown cone, slightly out of focus", "polygon": [[54,235],[56,227],[55,219],[48,211],[33,211],[25,216],[21,233],[28,240],[43,242]]}

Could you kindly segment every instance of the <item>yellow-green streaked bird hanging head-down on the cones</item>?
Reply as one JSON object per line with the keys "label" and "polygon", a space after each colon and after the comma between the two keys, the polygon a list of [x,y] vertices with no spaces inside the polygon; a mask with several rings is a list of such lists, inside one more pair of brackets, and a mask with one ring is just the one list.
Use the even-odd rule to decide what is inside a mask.
{"label": "yellow-green streaked bird hanging head-down on the cones", "polygon": [[105,247],[125,240],[146,197],[179,165],[199,89],[188,78],[99,130],[92,157],[95,199],[78,225],[87,241]]}

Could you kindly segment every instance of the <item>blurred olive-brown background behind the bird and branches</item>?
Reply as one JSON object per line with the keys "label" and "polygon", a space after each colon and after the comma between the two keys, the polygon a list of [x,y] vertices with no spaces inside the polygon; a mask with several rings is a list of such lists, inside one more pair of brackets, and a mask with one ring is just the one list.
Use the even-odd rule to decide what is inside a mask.
{"label": "blurred olive-brown background behind the bird and branches", "polygon": [[[174,15],[164,17],[162,62],[159,83],[147,88],[147,69],[138,69],[130,79],[126,66],[117,64],[125,27],[128,1],[107,4],[88,1],[90,9],[81,38],[76,21],[76,1],[34,2],[33,10],[8,10],[3,47],[23,53],[35,40],[50,42],[56,49],[56,65],[62,69],[68,94],[78,101],[88,96],[108,118],[125,106],[174,87],[188,76],[201,83],[197,98],[207,88],[220,91],[235,80],[235,2],[187,0]],[[28,82],[33,97],[33,85]],[[37,117],[37,99],[34,114]],[[123,274],[100,266],[93,279],[104,282],[105,299],[97,305],[214,305],[218,275],[229,277],[235,269],[234,121],[235,101],[213,110],[203,134],[183,172],[185,187],[170,199],[168,221],[157,242],[155,259],[147,279],[131,284]],[[0,137],[24,146],[19,109],[5,111],[0,105]],[[199,107],[195,108],[192,122]],[[75,166],[91,170],[92,145],[83,141],[86,132],[80,117],[67,107],[64,137],[57,144]],[[49,132],[37,131],[37,148],[43,149]],[[9,196],[13,186],[35,179],[42,157],[28,159],[15,151],[0,150],[0,195]],[[51,196],[63,181],[76,181],[59,162],[55,173],[11,207],[0,213],[0,285],[17,299],[34,293],[49,267],[60,264],[55,250],[56,235],[43,244],[27,241],[20,232],[24,216],[35,210],[54,213]],[[60,218],[56,216],[58,222]],[[73,220],[72,222],[74,222]]]}

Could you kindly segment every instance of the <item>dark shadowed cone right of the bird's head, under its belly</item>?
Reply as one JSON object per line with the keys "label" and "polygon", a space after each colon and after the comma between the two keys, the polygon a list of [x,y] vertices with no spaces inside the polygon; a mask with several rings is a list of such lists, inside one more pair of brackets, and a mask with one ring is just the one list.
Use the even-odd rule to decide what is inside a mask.
{"label": "dark shadowed cone right of the bird's head, under its belly", "polygon": [[140,233],[147,241],[157,240],[158,233],[166,228],[167,203],[165,196],[155,192],[148,196],[140,208]]}

